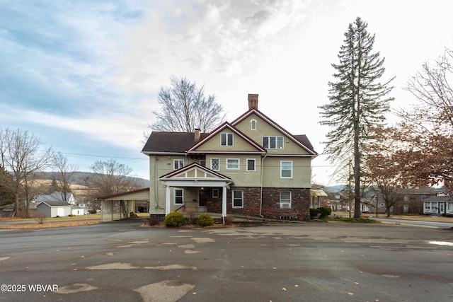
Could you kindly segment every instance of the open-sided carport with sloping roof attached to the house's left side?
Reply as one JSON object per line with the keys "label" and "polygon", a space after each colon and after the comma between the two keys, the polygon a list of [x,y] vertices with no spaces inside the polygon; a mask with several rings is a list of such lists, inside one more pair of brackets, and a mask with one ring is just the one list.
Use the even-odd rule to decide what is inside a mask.
{"label": "open-sided carport with sloping roof attached to the house's left side", "polygon": [[143,189],[98,197],[101,201],[101,221],[113,221],[130,218],[135,213],[137,202],[149,204],[149,187]]}

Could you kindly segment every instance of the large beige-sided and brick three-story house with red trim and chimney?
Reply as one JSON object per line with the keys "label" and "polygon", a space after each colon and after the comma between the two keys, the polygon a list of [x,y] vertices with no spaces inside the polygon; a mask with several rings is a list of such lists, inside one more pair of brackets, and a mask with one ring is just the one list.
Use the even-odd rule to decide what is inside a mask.
{"label": "large beige-sided and brick three-story house with red trim and chimney", "polygon": [[210,133],[152,132],[149,212],[214,212],[277,219],[309,219],[311,160],[305,135],[293,135],[258,110]]}

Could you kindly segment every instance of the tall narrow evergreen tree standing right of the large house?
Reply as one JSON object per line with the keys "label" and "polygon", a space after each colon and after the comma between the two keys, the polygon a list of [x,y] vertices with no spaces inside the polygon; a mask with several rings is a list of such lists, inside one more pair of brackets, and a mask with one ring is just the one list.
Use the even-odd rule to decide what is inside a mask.
{"label": "tall narrow evergreen tree standing right of the large house", "polygon": [[332,64],[336,81],[328,83],[330,103],[319,107],[323,117],[320,123],[333,127],[325,142],[328,159],[337,166],[337,173],[348,173],[352,163],[352,175],[348,177],[354,180],[355,218],[360,217],[362,142],[367,140],[369,127],[384,122],[384,114],[394,100],[387,96],[394,78],[379,81],[385,71],[384,59],[379,58],[379,52],[373,52],[374,35],[367,32],[367,25],[359,17],[349,24],[345,44],[338,53],[340,63]]}

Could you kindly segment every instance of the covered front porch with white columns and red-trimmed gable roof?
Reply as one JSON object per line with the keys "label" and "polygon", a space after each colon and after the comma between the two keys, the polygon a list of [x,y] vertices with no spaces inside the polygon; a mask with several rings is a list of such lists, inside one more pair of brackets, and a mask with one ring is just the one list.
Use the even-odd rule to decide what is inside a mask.
{"label": "covered front porch with white columns and red-trimmed gable roof", "polygon": [[193,163],[161,176],[159,180],[166,187],[166,215],[171,211],[214,211],[226,216],[226,192],[231,178]]}

